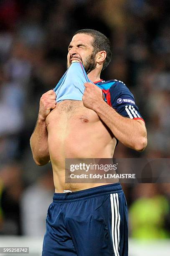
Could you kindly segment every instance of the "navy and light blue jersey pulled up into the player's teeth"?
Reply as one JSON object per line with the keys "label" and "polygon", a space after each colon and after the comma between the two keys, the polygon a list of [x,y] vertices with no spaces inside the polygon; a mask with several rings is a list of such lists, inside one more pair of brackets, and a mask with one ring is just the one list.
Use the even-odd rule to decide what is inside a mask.
{"label": "navy and light blue jersey pulled up into the player's teeth", "polygon": [[[82,100],[85,89],[84,83],[86,82],[91,81],[88,79],[83,65],[79,62],[72,63],[54,88],[56,102]],[[143,120],[134,102],[134,96],[123,82],[114,79],[108,81],[100,80],[94,82],[94,84],[101,88],[105,96],[104,100],[117,113],[127,118]]]}

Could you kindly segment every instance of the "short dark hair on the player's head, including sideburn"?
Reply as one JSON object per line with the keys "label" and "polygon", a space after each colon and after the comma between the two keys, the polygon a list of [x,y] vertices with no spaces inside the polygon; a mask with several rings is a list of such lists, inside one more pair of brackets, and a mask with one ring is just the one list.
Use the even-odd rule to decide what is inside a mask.
{"label": "short dark hair on the player's head, including sideburn", "polygon": [[75,36],[76,34],[86,34],[94,38],[92,43],[92,46],[94,47],[94,55],[96,55],[96,53],[98,53],[99,51],[106,51],[107,56],[102,68],[102,70],[104,70],[109,65],[112,59],[112,51],[109,39],[101,32],[89,28],[80,29],[76,31],[73,36]]}

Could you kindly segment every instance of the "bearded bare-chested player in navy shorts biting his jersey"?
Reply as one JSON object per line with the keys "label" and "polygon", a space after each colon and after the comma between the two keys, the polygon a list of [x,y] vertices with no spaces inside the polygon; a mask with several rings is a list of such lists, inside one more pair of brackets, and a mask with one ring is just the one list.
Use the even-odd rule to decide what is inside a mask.
{"label": "bearded bare-chested player in navy shorts biting his jersey", "polygon": [[[103,34],[89,29],[77,31],[69,44],[67,66],[80,61],[94,84],[84,84],[82,101],[56,103],[53,90],[41,97],[30,146],[36,164],[51,160],[55,185],[46,219],[44,256],[128,255],[127,204],[121,185],[65,184],[65,158],[112,158],[116,138],[137,151],[147,145],[145,122],[136,105],[131,113],[126,109],[127,115],[124,110],[120,115],[113,108],[114,95],[121,98],[117,90],[124,92],[121,99],[132,97],[134,102],[125,84],[109,80],[113,85],[103,92],[109,93],[111,103],[104,101],[102,90],[95,85],[108,82],[101,80],[100,73],[111,55],[109,40]],[[63,193],[64,190],[71,192]]]}

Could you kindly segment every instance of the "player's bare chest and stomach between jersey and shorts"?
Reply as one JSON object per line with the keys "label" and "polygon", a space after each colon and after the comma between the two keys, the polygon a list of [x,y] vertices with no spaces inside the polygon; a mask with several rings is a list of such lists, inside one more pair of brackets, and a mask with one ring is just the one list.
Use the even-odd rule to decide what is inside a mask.
{"label": "player's bare chest and stomach between jersey and shorts", "polygon": [[56,192],[104,185],[65,184],[65,158],[112,158],[114,154],[116,139],[96,112],[82,101],[63,100],[47,116],[46,127]]}

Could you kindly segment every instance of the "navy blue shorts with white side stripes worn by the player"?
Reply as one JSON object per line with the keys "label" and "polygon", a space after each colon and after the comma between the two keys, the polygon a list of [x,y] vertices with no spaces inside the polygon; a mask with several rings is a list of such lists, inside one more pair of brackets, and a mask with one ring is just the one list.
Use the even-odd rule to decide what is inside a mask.
{"label": "navy blue shorts with white side stripes worn by the player", "polygon": [[128,256],[127,202],[119,183],[54,193],[43,256]]}

